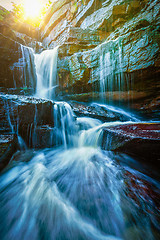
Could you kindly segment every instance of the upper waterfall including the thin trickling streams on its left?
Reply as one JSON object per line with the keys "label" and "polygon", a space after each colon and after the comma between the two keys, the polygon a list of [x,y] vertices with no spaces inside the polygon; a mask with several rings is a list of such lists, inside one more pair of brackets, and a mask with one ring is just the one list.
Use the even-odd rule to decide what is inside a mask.
{"label": "upper waterfall including the thin trickling streams on its left", "polygon": [[[58,47],[35,54],[30,47],[19,47],[19,60],[11,67],[14,87],[30,87],[37,97],[55,98]],[[36,90],[35,90],[36,89]]]}

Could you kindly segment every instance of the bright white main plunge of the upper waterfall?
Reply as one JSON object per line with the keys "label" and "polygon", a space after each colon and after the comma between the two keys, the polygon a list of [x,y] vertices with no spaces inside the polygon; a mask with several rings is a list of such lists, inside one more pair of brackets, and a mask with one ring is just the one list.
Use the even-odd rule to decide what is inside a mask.
{"label": "bright white main plunge of the upper waterfall", "polygon": [[54,99],[57,82],[57,57],[58,47],[35,54],[37,74],[36,96]]}

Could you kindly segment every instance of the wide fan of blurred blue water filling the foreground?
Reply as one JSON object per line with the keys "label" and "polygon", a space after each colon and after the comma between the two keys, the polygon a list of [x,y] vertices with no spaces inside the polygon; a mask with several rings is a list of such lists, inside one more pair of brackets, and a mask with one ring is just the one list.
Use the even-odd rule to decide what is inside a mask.
{"label": "wide fan of blurred blue water filling the foreground", "polygon": [[[98,122],[87,131],[91,125]],[[19,156],[23,162],[0,176],[1,239],[156,239],[154,203],[138,193],[149,179],[91,145],[42,150],[27,163],[30,152]]]}

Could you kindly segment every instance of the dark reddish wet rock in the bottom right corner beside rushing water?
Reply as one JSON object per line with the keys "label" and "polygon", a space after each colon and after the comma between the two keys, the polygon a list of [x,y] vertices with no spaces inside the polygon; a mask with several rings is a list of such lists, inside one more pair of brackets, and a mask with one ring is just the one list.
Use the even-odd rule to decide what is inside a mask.
{"label": "dark reddish wet rock in the bottom right corner beside rushing water", "polygon": [[[130,199],[126,205],[123,205],[123,211],[127,212],[126,206],[133,204],[135,208],[144,211],[145,216],[150,218],[151,229],[155,239],[159,238],[159,220],[160,220],[160,191],[158,186],[151,183],[149,179],[144,179],[143,175],[136,175],[134,172],[124,171],[125,194]],[[133,206],[132,205],[132,206]],[[143,210],[142,210],[143,209]],[[131,215],[126,214],[126,224],[130,226]],[[141,231],[141,228],[140,228]],[[135,229],[133,239],[136,236],[137,227]],[[132,233],[132,231],[131,231]],[[126,233],[127,234],[127,231]],[[126,235],[127,236],[127,235]],[[129,235],[131,237],[131,235]]]}

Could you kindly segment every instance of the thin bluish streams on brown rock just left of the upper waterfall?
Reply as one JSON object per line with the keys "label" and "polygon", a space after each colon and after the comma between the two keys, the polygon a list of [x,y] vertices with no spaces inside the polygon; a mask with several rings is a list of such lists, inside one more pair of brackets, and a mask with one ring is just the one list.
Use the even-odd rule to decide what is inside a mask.
{"label": "thin bluish streams on brown rock just left of the upper waterfall", "polygon": [[34,50],[30,47],[19,47],[19,61],[12,66],[15,88],[32,88],[36,85],[36,71],[34,63]]}

